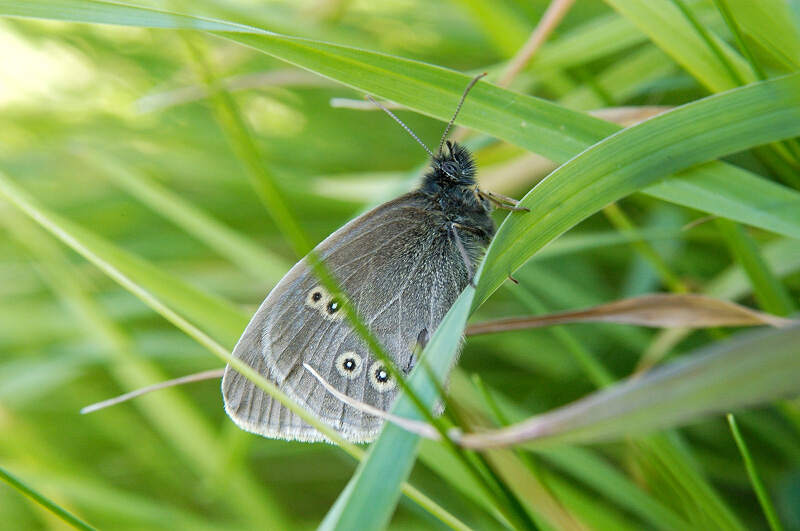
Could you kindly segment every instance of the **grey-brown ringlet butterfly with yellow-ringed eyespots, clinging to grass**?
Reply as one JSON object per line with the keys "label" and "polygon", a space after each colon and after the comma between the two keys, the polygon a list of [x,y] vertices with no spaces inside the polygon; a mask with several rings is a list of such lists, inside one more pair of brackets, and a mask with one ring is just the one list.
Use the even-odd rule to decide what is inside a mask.
{"label": "grey-brown ringlet butterfly with yellow-ringed eyespots, clinging to grass", "polygon": [[[495,232],[492,202],[505,206],[500,197],[516,204],[479,190],[470,152],[454,142],[445,144],[464,98],[483,75],[464,91],[436,154],[375,102],[425,147],[431,168],[417,190],[357,217],[313,251],[405,374],[472,281]],[[334,398],[303,367],[307,363],[355,400],[383,410],[392,406],[399,392],[394,376],[343,313],[312,272],[308,257],[303,258],[261,304],[233,356],[275,382],[346,439],[370,442],[382,420]],[[222,379],[222,394],[225,411],[246,431],[287,440],[328,440],[230,365]]]}

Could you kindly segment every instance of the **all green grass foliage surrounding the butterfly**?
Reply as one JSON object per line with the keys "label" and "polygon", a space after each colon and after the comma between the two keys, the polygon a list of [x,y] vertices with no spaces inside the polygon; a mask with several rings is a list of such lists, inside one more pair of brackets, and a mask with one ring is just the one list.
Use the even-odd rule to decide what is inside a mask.
{"label": "all green grass foliage surrounding the butterfly", "polygon": [[[766,510],[800,528],[800,406],[775,401],[800,381],[796,328],[470,338],[446,426],[499,427],[715,353],[694,378],[645,378],[597,419],[556,422],[547,445],[472,452],[394,426],[363,455],[272,441],[228,420],[218,382],[78,413],[220,367],[297,251],[414,185],[413,139],[332,98],[399,103],[433,145],[484,70],[458,123],[482,187],[531,212],[498,213],[476,289],[409,382],[424,402],[468,318],[671,289],[796,312],[796,3],[577,2],[498,87],[546,7],[0,0],[15,59],[0,65],[3,527],[749,529]],[[624,130],[587,113],[650,105],[679,108]],[[693,416],[743,402],[761,407],[736,411],[736,439]],[[424,418],[405,398],[395,413]]]}

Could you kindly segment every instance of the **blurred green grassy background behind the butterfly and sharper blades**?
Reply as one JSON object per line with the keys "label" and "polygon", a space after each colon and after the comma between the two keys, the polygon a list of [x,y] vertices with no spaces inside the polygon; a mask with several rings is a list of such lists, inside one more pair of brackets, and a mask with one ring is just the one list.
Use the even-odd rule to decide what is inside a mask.
{"label": "blurred green grassy background behind the butterfly and sharper blades", "polygon": [[[0,14],[15,14],[15,4],[0,2]],[[795,1],[772,0],[755,9],[744,0],[578,0],[511,89],[591,111],[682,105],[755,80],[745,76],[726,87],[698,78],[703,65],[692,62],[697,50],[681,42],[678,31],[659,32],[642,22],[648,9],[662,4],[681,20],[694,21],[696,35],[713,33],[725,50],[734,50],[734,70],[757,65],[771,78],[798,68]],[[384,113],[332,105],[334,98],[359,104],[362,91],[221,36],[152,29],[133,16],[128,23],[134,27],[64,21],[73,20],[79,8],[102,18],[100,7],[108,4],[32,5],[51,20],[0,18],[0,172],[55,214],[51,232],[61,227],[90,233],[91,242],[101,238],[105,243],[97,246],[107,249],[107,256],[174,289],[173,304],[219,319],[217,328],[200,328],[226,348],[298,257],[254,192],[240,147],[235,139],[232,147],[219,108],[209,102],[204,77],[230,94],[260,162],[313,243],[412,188],[424,169],[426,153]],[[548,2],[138,5],[470,75],[488,70],[494,81]],[[720,9],[738,23],[726,21]],[[745,48],[737,29],[745,35]],[[444,128],[440,120],[397,114],[428,146],[436,145]],[[522,197],[555,168],[520,147],[476,134],[467,138],[484,188]],[[787,143],[726,160],[796,194],[798,153]],[[796,311],[797,239],[714,220],[687,227],[706,213],[644,194],[617,206],[592,215],[538,253],[514,274],[520,285],[504,285],[473,319],[681,289],[781,315]],[[503,217],[497,214],[498,222]],[[796,216],[794,221],[800,226]],[[627,222],[634,228],[626,228]],[[334,446],[239,431],[223,411],[218,380],[80,415],[91,403],[222,364],[2,198],[0,227],[0,467],[99,528],[319,524],[357,463]],[[748,263],[746,276],[740,264]],[[522,418],[594,390],[597,381],[587,376],[581,356],[594,359],[613,378],[624,378],[643,357],[657,362],[679,356],[731,332],[680,335],[573,325],[475,337],[453,377],[454,399],[475,395],[470,377],[479,375],[506,414]],[[800,529],[799,418],[791,403],[738,417],[786,529]],[[441,451],[424,445],[411,483],[466,526],[514,526],[461,472],[448,468]],[[530,521],[544,528],[767,526],[722,419],[671,432],[657,443],[627,440],[516,458],[530,469],[515,479],[498,464],[496,473],[524,500]],[[529,482],[536,487],[520,486]],[[0,484],[0,522],[4,529],[68,527],[5,484]],[[390,525],[446,527],[406,498]]]}

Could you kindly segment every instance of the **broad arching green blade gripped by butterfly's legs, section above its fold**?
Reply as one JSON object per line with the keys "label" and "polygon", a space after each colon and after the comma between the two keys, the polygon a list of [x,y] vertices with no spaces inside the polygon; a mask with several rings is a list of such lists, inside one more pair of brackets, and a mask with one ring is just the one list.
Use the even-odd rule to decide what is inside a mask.
{"label": "broad arching green blade gripped by butterfly's legs, section above its fold", "polygon": [[792,75],[711,96],[608,138],[528,193],[521,205],[530,212],[506,218],[489,247],[476,303],[603,206],[694,164],[798,134],[800,76]]}

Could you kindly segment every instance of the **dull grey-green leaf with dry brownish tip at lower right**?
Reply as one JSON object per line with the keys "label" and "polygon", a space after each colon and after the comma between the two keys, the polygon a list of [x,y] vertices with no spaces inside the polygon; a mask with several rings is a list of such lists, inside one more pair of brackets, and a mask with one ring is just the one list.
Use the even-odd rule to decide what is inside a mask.
{"label": "dull grey-green leaf with dry brownish tip at lower right", "polygon": [[586,444],[682,426],[800,394],[800,325],[742,334],[573,404],[491,433],[468,448]]}

